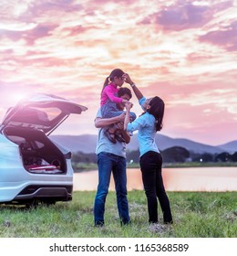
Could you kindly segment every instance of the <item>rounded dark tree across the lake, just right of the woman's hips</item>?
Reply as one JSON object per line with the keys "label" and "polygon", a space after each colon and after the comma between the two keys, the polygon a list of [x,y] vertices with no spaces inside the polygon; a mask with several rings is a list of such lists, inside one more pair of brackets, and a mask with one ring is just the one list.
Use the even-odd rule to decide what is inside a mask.
{"label": "rounded dark tree across the lake, just right of the woman's hips", "polygon": [[189,157],[190,152],[181,146],[167,148],[161,153],[164,163],[184,163]]}

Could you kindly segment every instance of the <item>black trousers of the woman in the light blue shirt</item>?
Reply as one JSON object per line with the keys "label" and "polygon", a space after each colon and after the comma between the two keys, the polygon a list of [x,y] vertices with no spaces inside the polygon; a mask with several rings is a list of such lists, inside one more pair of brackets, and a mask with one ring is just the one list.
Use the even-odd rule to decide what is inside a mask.
{"label": "black trousers of the woman in the light blue shirt", "polygon": [[158,202],[163,212],[164,223],[172,223],[170,201],[166,195],[161,175],[162,157],[160,153],[149,151],[139,159],[142,181],[148,199],[149,223],[158,222]]}

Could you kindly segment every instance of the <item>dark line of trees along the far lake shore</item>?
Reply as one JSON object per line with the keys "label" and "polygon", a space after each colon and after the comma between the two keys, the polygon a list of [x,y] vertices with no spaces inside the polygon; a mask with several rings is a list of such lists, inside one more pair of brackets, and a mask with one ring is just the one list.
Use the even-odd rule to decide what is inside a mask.
{"label": "dark line of trees along the far lake shore", "polygon": [[[172,146],[163,151],[160,151],[164,163],[185,163],[185,162],[237,162],[237,152],[230,154],[222,152],[220,154],[210,153],[193,153],[181,146]],[[127,161],[129,163],[139,163],[139,150],[128,151]],[[95,153],[77,152],[72,156],[73,163],[97,163],[97,155]]]}

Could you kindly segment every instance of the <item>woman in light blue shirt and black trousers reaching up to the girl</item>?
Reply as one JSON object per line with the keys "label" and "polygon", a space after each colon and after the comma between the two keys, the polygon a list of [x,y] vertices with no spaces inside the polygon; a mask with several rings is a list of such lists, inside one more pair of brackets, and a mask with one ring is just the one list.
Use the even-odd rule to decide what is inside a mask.
{"label": "woman in light blue shirt and black trousers reaching up to the girl", "polygon": [[158,197],[164,223],[170,224],[173,220],[170,211],[170,201],[167,197],[161,174],[162,157],[155,143],[156,133],[162,129],[165,104],[157,96],[146,99],[132,81],[129,83],[139,99],[139,104],[144,112],[137,120],[129,123],[129,110],[131,106],[128,105],[124,128],[129,133],[139,131],[139,165],[148,200],[149,223],[158,222]]}

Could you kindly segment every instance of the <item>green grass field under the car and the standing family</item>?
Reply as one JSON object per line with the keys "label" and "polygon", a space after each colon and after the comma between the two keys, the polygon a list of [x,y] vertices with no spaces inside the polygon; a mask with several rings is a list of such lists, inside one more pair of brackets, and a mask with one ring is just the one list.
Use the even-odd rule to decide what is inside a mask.
{"label": "green grass field under the car and the standing family", "polygon": [[[0,205],[2,238],[236,238],[237,192],[169,192],[173,225],[149,226],[144,191],[129,192],[132,224],[120,226],[109,192],[104,228],[93,225],[95,192],[74,192],[70,202],[26,209]],[[159,208],[160,213],[160,208]]]}

